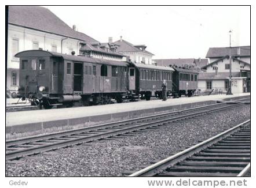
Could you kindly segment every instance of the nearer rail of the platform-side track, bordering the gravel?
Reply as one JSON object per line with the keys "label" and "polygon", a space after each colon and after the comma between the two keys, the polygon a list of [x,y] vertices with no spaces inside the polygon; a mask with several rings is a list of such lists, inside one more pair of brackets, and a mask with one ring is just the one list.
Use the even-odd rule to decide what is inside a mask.
{"label": "nearer rail of the platform-side track, bordering the gravel", "polygon": [[[148,122],[148,123],[142,123],[141,125],[130,125],[129,127],[125,127],[125,128],[121,127],[121,129],[110,130],[110,131],[106,130],[107,132],[104,132],[104,133],[96,133],[96,134],[93,133],[92,135],[79,136],[76,138],[68,138],[67,140],[58,141],[60,138],[56,137],[55,141],[50,142],[49,144],[42,144],[42,145],[36,145],[36,146],[33,145],[28,148],[22,148],[22,149],[17,149],[14,151],[6,152],[6,159],[8,159],[8,160],[16,159],[16,158],[23,157],[26,155],[33,155],[35,153],[50,151],[53,149],[63,148],[66,146],[82,144],[83,142],[91,142],[91,141],[95,141],[95,140],[100,140],[102,138],[118,136],[119,134],[130,133],[132,131],[147,129],[147,128],[153,127],[153,126],[160,126],[160,125],[164,125],[166,123],[170,123],[172,121],[177,121],[177,120],[186,119],[186,118],[192,118],[194,116],[204,115],[204,114],[214,112],[214,111],[219,111],[219,110],[225,110],[226,108],[231,108],[231,107],[240,106],[240,105],[241,104],[233,104],[231,106],[213,108],[213,109],[210,109],[207,111],[193,112],[191,114],[175,116],[175,117],[171,117],[168,119],[163,119],[163,120],[158,120],[158,121],[153,121],[153,122]],[[74,136],[75,136],[75,134],[74,134]],[[45,139],[45,140],[47,140],[47,139]],[[8,149],[8,148],[6,148],[6,149]]]}

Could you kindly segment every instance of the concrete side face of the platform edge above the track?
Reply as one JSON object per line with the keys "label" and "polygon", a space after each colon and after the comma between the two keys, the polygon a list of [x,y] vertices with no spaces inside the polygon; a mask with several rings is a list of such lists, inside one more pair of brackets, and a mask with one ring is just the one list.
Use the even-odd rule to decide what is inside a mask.
{"label": "concrete side face of the platform edge above the track", "polygon": [[[228,99],[224,99],[223,101],[230,100],[239,100],[243,99],[245,96],[232,97]],[[126,112],[118,112],[115,114],[101,114],[94,116],[85,116],[81,118],[74,119],[60,119],[57,121],[47,121],[47,122],[37,122],[37,123],[26,123],[23,125],[13,125],[6,127],[6,134],[18,134],[18,133],[28,133],[28,132],[36,132],[36,134],[44,133],[45,130],[50,130],[54,127],[71,127],[70,129],[74,129],[76,125],[81,125],[81,127],[96,125],[100,123],[114,122],[131,118],[138,118],[140,116],[159,114],[167,111],[177,111],[186,108],[205,106],[210,104],[217,103],[216,100],[210,101],[200,101],[195,103],[186,103],[179,104],[175,106],[166,106],[166,107],[157,107],[157,108],[149,108],[137,111],[126,111]]]}

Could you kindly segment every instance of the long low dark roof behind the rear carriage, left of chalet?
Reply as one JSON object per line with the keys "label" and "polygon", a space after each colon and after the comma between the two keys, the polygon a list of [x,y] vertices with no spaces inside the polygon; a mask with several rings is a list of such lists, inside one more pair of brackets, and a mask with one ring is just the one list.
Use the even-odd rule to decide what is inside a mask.
{"label": "long low dark roof behind the rear carriage, left of chalet", "polygon": [[170,66],[170,65],[189,65],[195,64],[195,59],[193,58],[186,58],[186,59],[153,59],[160,66]]}

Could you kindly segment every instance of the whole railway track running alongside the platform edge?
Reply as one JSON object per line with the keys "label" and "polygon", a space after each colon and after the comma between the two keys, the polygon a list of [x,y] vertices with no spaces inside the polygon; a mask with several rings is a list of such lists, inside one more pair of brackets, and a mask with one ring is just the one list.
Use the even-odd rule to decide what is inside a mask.
{"label": "whole railway track running alongside the platform edge", "polygon": [[209,106],[166,112],[163,114],[145,116],[126,121],[105,123],[103,125],[90,126],[81,129],[19,138],[16,140],[7,140],[6,159],[17,159],[27,155],[34,155],[36,153],[82,144],[83,142],[92,142],[95,140],[115,137],[121,134],[129,136],[129,134],[133,134],[134,131],[157,129],[158,126],[170,125],[171,122],[182,121],[183,119],[193,118],[242,105],[244,105],[244,103],[211,104]]}

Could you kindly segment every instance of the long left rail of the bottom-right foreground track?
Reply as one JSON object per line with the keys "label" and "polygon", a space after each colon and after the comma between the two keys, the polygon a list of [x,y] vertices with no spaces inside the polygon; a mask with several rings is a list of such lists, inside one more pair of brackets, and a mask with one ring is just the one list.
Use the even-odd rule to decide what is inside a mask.
{"label": "long left rail of the bottom-right foreground track", "polygon": [[192,147],[187,148],[184,151],[178,152],[175,155],[167,157],[166,159],[161,160],[158,163],[155,163],[155,164],[152,164],[151,166],[143,168],[140,171],[134,172],[129,176],[153,176],[158,172],[163,171],[167,167],[173,166],[174,164],[177,164],[178,162],[186,159],[187,157],[202,151],[203,149],[207,148],[210,145],[213,145],[215,142],[222,140],[223,138],[239,130],[240,127],[247,125],[250,121],[251,120],[248,119],[247,121],[232,127],[231,129],[228,129],[220,134],[217,134],[216,136],[211,137],[203,142],[200,142],[199,144],[193,145]]}

